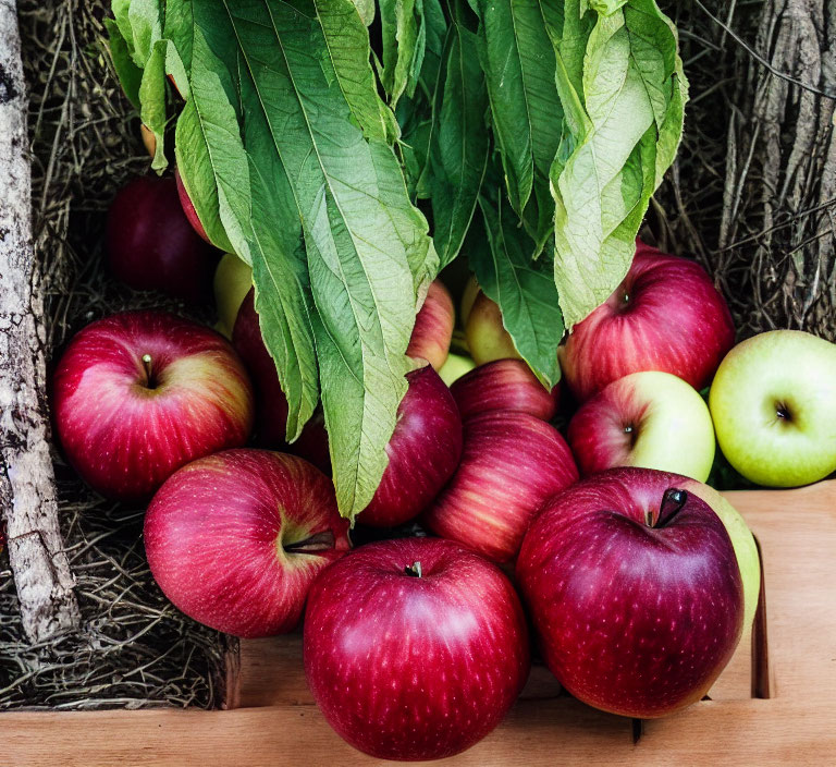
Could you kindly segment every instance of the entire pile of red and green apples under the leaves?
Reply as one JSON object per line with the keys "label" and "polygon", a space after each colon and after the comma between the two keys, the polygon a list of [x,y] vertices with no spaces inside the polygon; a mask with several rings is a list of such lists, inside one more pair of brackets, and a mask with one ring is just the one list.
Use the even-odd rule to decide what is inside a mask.
{"label": "entire pile of red and green apples under the leaves", "polygon": [[[125,236],[119,210],[134,221],[142,205],[118,200],[111,268],[140,289],[182,291],[181,267],[202,284],[188,273],[212,263],[194,257],[202,242],[148,190],[139,197],[188,233],[179,247],[192,266],[155,245],[159,219]],[[702,268],[639,243],[624,282],[561,348],[567,392],[548,391],[475,281],[460,312],[471,356],[450,354],[454,304],[435,281],[407,351],[416,368],[389,466],[357,518],[401,527],[352,549],[321,415],[284,442],[287,404],[247,269],[231,255],[218,266],[221,332],[122,313],[77,333],[54,370],[67,459],[99,492],[150,500],[148,561],[177,608],[242,637],[304,616],[317,703],[380,758],[450,756],[488,734],[527,680],[529,626],[551,671],[591,706],[659,717],[708,692],[760,585],[751,533],[703,484],[715,433],[755,483],[835,471],[835,346],[775,331],[733,349]],[[558,412],[566,437],[550,423]]]}

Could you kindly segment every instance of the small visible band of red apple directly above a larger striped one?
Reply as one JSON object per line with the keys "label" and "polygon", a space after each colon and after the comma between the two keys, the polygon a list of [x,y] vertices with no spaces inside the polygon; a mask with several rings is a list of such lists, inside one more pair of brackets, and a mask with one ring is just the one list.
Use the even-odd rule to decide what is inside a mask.
{"label": "small visible band of red apple directly above a larger striped one", "polygon": [[492,410],[513,410],[551,421],[560,402],[560,386],[548,391],[521,360],[494,360],[480,365],[450,390],[463,419]]}

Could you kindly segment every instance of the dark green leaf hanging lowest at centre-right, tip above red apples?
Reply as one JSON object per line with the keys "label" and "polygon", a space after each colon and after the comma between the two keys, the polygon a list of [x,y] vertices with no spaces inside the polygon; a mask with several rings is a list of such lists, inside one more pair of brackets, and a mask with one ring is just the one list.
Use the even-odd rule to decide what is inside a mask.
{"label": "dark green leaf hanging lowest at centre-right, tip above red apples", "polygon": [[502,198],[497,206],[479,198],[488,247],[468,251],[468,260],[485,295],[502,311],[514,345],[543,386],[561,378],[557,345],[564,327],[551,258],[532,260],[534,241],[517,226]]}

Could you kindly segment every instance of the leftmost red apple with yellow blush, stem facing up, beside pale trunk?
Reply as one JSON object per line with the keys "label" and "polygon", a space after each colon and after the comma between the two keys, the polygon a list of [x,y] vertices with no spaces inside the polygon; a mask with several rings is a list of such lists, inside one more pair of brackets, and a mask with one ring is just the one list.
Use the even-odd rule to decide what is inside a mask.
{"label": "leftmost red apple with yellow blush, stem facing up, beside pale trunk", "polygon": [[118,500],[149,497],[189,461],[244,445],[253,428],[253,388],[238,355],[213,330],[167,312],[88,325],[70,342],[52,386],[70,463]]}

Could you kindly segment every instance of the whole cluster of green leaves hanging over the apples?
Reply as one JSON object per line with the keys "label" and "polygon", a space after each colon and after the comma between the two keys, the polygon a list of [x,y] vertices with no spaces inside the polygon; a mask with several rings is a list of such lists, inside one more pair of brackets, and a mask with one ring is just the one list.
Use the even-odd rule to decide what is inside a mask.
{"label": "whole cluster of green leaves hanging over the apples", "polygon": [[[386,465],[429,282],[466,253],[546,384],[622,280],[687,84],[655,0],[113,0],[128,98],[254,269],[295,439],[341,511]],[[176,89],[173,97],[169,83]],[[432,221],[432,236],[425,212]]]}

